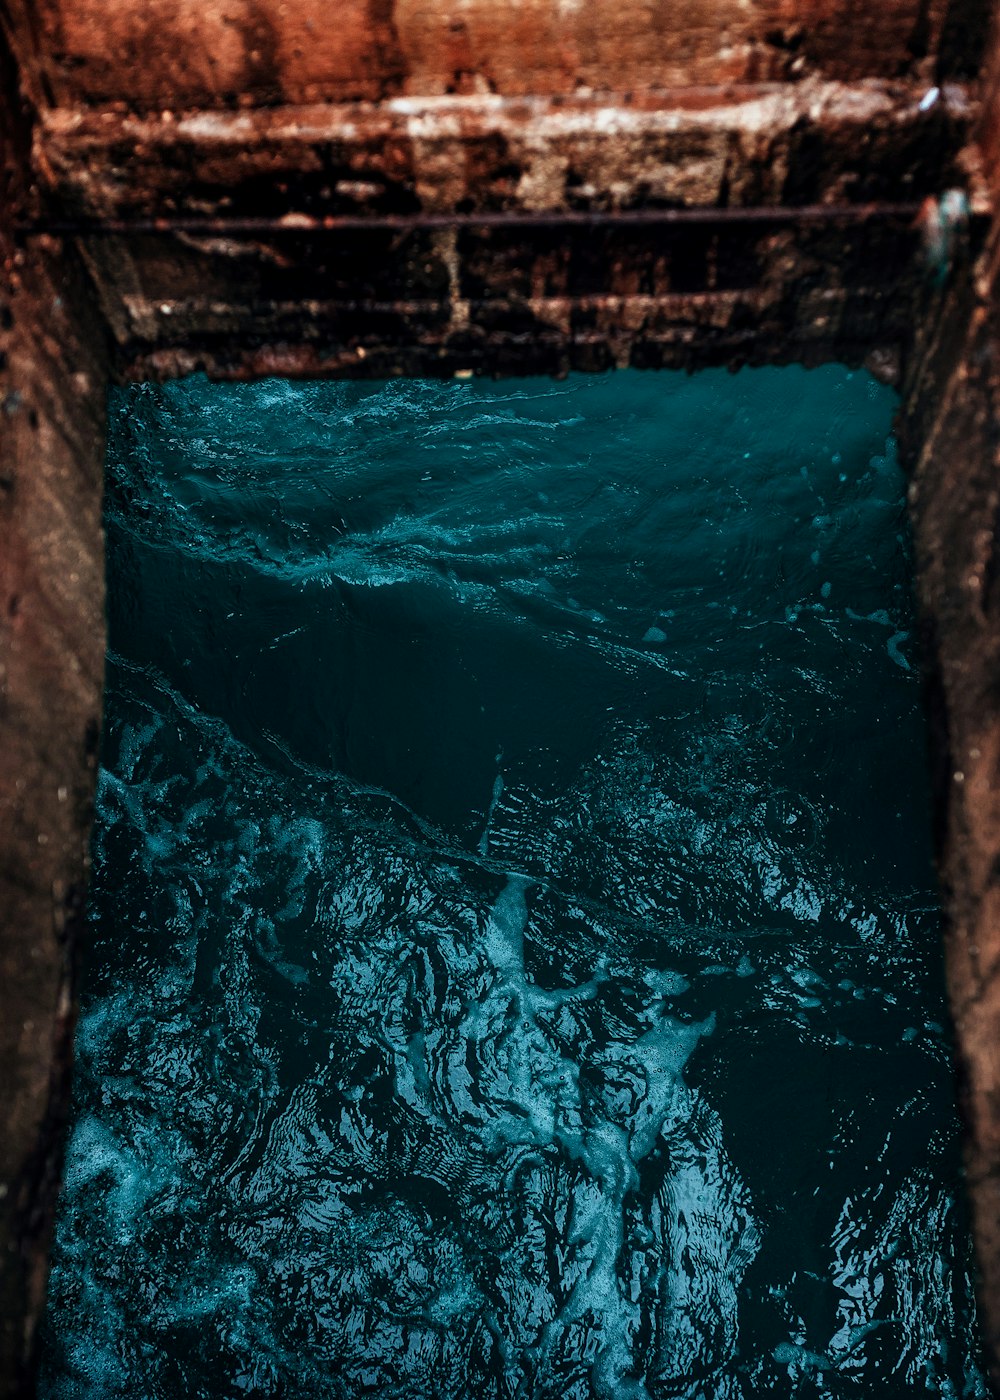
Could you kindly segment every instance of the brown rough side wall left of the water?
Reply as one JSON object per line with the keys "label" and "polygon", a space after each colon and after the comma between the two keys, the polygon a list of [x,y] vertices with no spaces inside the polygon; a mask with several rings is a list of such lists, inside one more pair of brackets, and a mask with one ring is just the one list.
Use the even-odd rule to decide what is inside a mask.
{"label": "brown rough side wall left of the water", "polygon": [[104,668],[106,332],[11,237],[29,112],[0,32],[0,1397],[32,1393],[69,1099]]}

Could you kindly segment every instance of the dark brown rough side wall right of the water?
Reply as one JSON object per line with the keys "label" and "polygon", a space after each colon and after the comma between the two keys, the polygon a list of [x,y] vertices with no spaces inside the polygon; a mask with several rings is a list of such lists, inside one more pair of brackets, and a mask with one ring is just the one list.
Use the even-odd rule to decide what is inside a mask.
{"label": "dark brown rough side wall right of the water", "polygon": [[[996,196],[1000,45],[990,87],[980,141]],[[1000,216],[979,262],[926,309],[901,426],[980,1322],[1000,1393]]]}

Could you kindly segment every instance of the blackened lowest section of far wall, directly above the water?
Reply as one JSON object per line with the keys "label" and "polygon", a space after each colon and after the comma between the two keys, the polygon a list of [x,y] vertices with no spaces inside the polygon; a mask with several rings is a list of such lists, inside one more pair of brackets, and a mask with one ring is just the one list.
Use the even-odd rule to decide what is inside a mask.
{"label": "blackened lowest section of far wall, directly above the water", "polygon": [[919,238],[898,220],[849,231],[280,235],[227,259],[238,286],[230,266],[220,277],[217,246],[91,242],[129,377],[857,364],[874,347],[889,364],[908,335],[894,291]]}

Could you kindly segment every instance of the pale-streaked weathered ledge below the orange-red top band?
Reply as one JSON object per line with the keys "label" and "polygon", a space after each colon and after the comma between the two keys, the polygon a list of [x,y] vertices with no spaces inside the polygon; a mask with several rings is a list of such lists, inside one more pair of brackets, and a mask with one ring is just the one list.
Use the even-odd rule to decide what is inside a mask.
{"label": "pale-streaked weathered ledge below the orange-red top band", "polygon": [[[966,183],[968,84],[810,78],[136,116],[56,109],[43,197],[83,218],[866,203]],[[461,155],[457,158],[457,153]]]}

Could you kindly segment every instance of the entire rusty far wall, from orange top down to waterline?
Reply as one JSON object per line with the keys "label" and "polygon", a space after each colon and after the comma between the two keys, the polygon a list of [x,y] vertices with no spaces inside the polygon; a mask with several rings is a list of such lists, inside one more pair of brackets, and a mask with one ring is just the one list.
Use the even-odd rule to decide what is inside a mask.
{"label": "entire rusty far wall, from orange top down to waterline", "polygon": [[[24,4],[35,216],[84,225],[129,377],[889,365],[913,210],[969,179],[987,4]],[[657,209],[706,217],[566,221]],[[143,227],[176,218],[217,227]]]}

